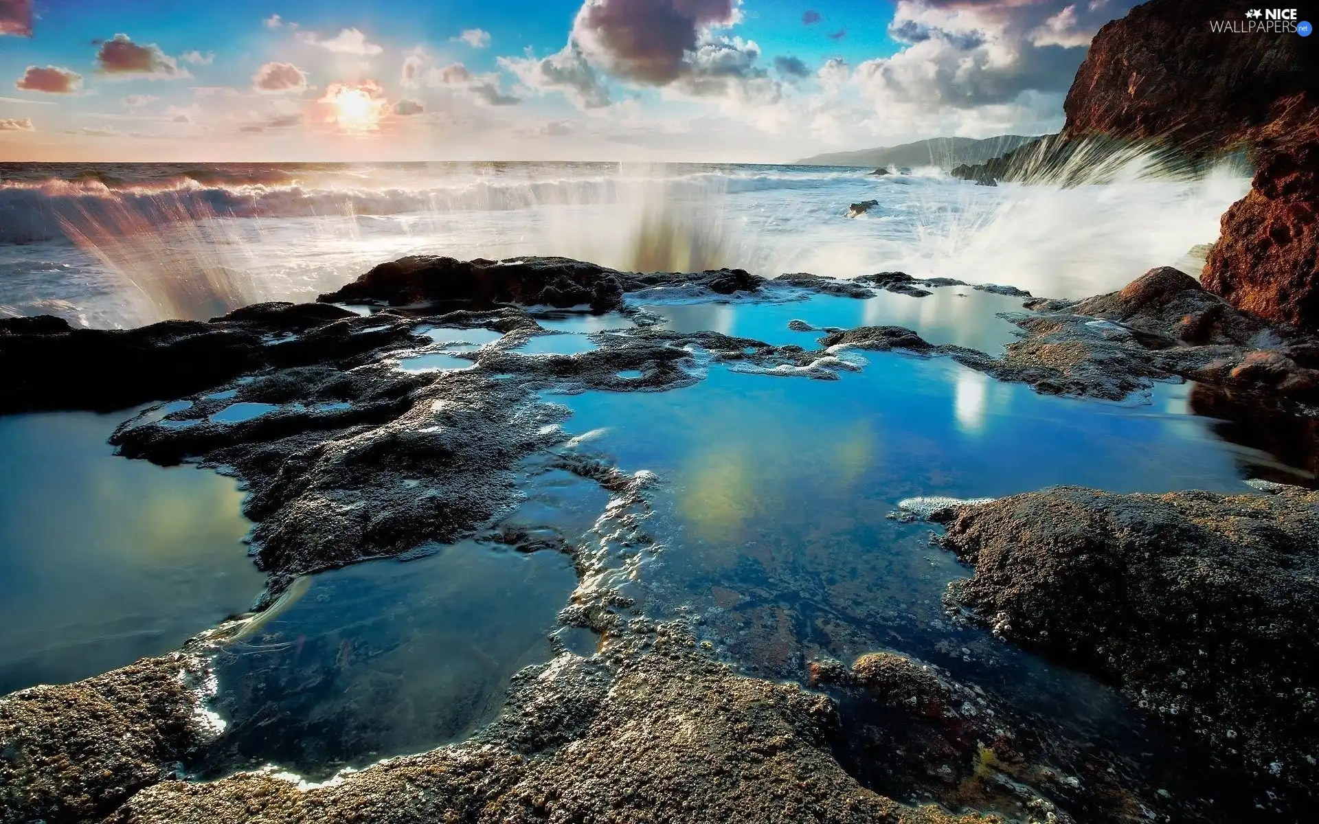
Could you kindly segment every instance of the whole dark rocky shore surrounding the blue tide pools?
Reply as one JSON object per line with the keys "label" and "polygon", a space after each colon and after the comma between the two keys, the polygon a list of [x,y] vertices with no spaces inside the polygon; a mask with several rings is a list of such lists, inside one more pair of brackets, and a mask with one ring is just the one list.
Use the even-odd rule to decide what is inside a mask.
{"label": "whole dark rocky shore surrounding the blue tide pools", "polygon": [[[454,277],[455,272],[460,274]],[[856,368],[840,357],[848,349],[896,349],[951,357],[1042,393],[1109,399],[1140,392],[1150,381],[1182,376],[1253,397],[1289,419],[1314,418],[1312,340],[1241,312],[1170,269],[1153,270],[1120,293],[1088,301],[1030,299],[1030,310],[1010,316],[1024,335],[1001,357],[933,345],[901,327],[818,330],[816,349],[718,332],[673,332],[650,326],[624,301],[629,293],[656,287],[707,299],[811,293],[861,299],[878,289],[918,298],[917,293],[927,291],[921,286],[954,282],[915,281],[901,273],[855,282],[806,274],[766,281],[740,270],[630,276],[559,258],[470,264],[405,258],[326,295],[323,303],[253,306],[210,323],[116,332],[70,330],[49,318],[0,320],[0,364],[15,376],[0,389],[0,409],[175,401],[168,414],[157,410],[129,421],[113,442],[125,456],[164,465],[200,463],[243,480],[251,490],[245,513],[257,522],[256,562],[268,575],[266,604],[299,575],[491,529],[517,497],[517,468],[529,456],[546,454],[547,427],[559,421],[561,413],[537,399],[538,389],[677,388],[698,380],[691,374],[695,351],[712,363],[830,380]],[[458,290],[455,283],[466,285]],[[376,310],[360,315],[331,303],[347,299],[375,303]],[[599,332],[594,336],[598,348],[587,352],[529,357],[517,347],[546,330],[522,301],[541,306],[586,302],[595,311],[620,312],[637,327],[627,334]],[[503,338],[455,353],[471,363],[468,369],[398,369],[401,357],[431,343],[425,331],[437,326],[492,330]],[[183,363],[204,367],[183,373],[168,368]],[[785,370],[785,364],[791,368]],[[625,370],[638,377],[620,378]],[[107,396],[106,388],[115,385],[123,389]],[[232,403],[272,410],[240,422],[214,419]],[[551,460],[609,490],[616,529],[630,535],[624,543],[645,551],[636,510],[645,506],[646,477],[580,455],[555,457],[551,452]],[[418,485],[437,492],[418,496],[413,492]],[[1035,494],[1041,502],[1030,506],[1047,513],[1054,510],[1046,501],[1059,496],[1103,500],[1103,493],[1079,490]],[[1210,717],[1195,729],[1207,746],[1254,770],[1258,787],[1291,800],[1308,798],[1315,779],[1301,744],[1311,728],[1287,713],[1312,712],[1310,699],[1298,693],[1295,700],[1270,703],[1266,692],[1282,676],[1299,679],[1289,690],[1312,688],[1311,676],[1297,671],[1302,666],[1297,662],[1314,657],[1319,635],[1295,613],[1297,605],[1308,601],[1289,599],[1312,588],[1304,571],[1316,550],[1304,535],[1314,534],[1306,533],[1315,517],[1314,493],[1212,502],[1198,494],[1146,496],[1140,502],[1141,518],[1166,522],[1182,541],[1173,546],[1194,547],[1187,548],[1183,566],[1212,567],[1219,563],[1213,555],[1219,547],[1236,559],[1239,577],[1277,570],[1257,577],[1264,595],[1262,606],[1249,613],[1254,624],[1231,620],[1245,614],[1240,604],[1215,601],[1224,612],[1212,624],[1213,632],[1224,643],[1246,645],[1256,655],[1245,680],[1215,658],[1217,668],[1202,667],[1182,690],[1169,680],[1177,668],[1151,664],[1159,655],[1177,661],[1157,643],[1133,646],[1117,663],[1095,658],[1099,646],[1122,649],[1113,639],[1120,626],[1096,629],[1074,613],[1050,613],[1046,606],[1053,601],[1031,593],[1063,595],[1074,612],[1092,616],[1112,608],[1103,600],[1112,592],[1137,591],[1121,584],[1122,575],[1132,575],[1148,587],[1141,591],[1149,592],[1151,614],[1162,614],[1161,605],[1182,618],[1192,606],[1202,617],[1211,610],[1173,597],[1161,600],[1167,587],[1155,571],[1138,564],[1121,574],[1108,567],[1068,567],[1103,556],[1100,544],[1093,552],[1059,554],[1071,546],[1066,530],[1076,529],[1074,518],[1041,521],[1030,533],[1038,548],[1030,541],[1009,541],[1016,533],[992,526],[998,523],[993,513],[1008,513],[1002,515],[1008,526],[1020,523],[1025,515],[1008,508],[1025,504],[956,510],[944,543],[976,564],[977,574],[954,585],[950,605],[958,614],[998,626],[1001,635],[1028,649],[1111,679],[1133,700],[1145,701],[1153,717],[1174,726],[1192,705],[1203,709],[1200,715]],[[1195,527],[1200,510],[1192,504],[1212,513],[1219,512],[1215,506],[1245,508],[1249,512],[1232,517],[1242,523],[1253,518],[1254,531],[1248,533],[1256,538],[1200,541],[1198,533],[1186,530],[1212,533],[1216,522],[1211,518],[1208,526]],[[295,780],[268,773],[204,784],[177,780],[174,763],[204,749],[214,736],[202,703],[203,661],[214,643],[253,620],[239,618],[173,658],[0,699],[0,751],[5,753],[0,786],[7,787],[0,794],[0,820],[1142,821],[1149,820],[1145,811],[1177,820],[1223,820],[1212,811],[1179,807],[1142,790],[1138,782],[1121,778],[1125,770],[1116,773],[1119,778],[1101,771],[1078,777],[1049,766],[1059,763],[1059,753],[1038,721],[1014,719],[1009,708],[995,705],[975,688],[901,655],[877,651],[851,668],[818,662],[813,686],[828,695],[739,675],[712,661],[682,625],[650,624],[633,609],[611,584],[611,576],[630,562],[607,551],[546,543],[543,537],[501,535],[501,541],[514,547],[522,542],[525,551],[553,548],[572,555],[579,580],[592,585],[579,587],[561,624],[588,628],[605,642],[594,657],[565,651],[550,664],[520,674],[504,713],[475,738],[389,759],[323,788],[298,788]],[[1125,546],[1111,554],[1129,552]],[[1013,552],[1038,556],[1026,555],[1030,560],[1022,564],[1010,560]],[[981,576],[980,566],[991,563],[1038,577]],[[1054,572],[1111,580],[1117,589],[1059,592]],[[1291,588],[1279,588],[1282,580]],[[998,613],[1008,617],[1000,621]],[[1258,625],[1273,626],[1282,614],[1290,629],[1281,624],[1270,629],[1273,646],[1253,639]],[[1108,633],[1105,641],[1091,643],[1100,630]],[[1039,632],[1047,633],[1047,643]],[[1153,635],[1154,641],[1162,637]],[[1186,647],[1186,638],[1166,638]],[[1174,705],[1177,713],[1163,712]],[[840,707],[867,707],[872,719],[882,721],[843,729],[852,716]],[[1241,719],[1249,713],[1260,715],[1254,722]],[[1279,740],[1270,732],[1289,724],[1298,737]],[[128,728],[136,732],[129,734]],[[1079,763],[1087,761],[1105,763],[1096,757]],[[1283,767],[1274,770],[1274,761]],[[886,765],[886,778],[873,773],[865,778],[861,763]],[[939,771],[944,767],[951,773]],[[893,796],[884,795],[885,790]]]}

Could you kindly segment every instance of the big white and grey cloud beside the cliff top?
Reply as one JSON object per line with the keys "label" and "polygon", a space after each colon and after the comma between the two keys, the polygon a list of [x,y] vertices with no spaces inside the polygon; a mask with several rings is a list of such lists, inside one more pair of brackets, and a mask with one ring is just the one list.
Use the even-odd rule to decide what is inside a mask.
{"label": "big white and grey cloud beside the cliff top", "polygon": [[904,47],[867,61],[855,78],[877,103],[921,108],[1005,104],[1063,94],[1089,37],[1133,5],[1107,0],[900,0],[889,36]]}

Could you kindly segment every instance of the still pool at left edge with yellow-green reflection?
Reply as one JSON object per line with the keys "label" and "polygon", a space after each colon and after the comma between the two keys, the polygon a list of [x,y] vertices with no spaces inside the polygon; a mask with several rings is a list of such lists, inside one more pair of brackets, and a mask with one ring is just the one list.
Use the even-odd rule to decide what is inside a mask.
{"label": "still pool at left edge with yellow-green reflection", "polygon": [[175,650],[264,587],[235,481],[115,456],[129,417],[0,417],[0,695]]}

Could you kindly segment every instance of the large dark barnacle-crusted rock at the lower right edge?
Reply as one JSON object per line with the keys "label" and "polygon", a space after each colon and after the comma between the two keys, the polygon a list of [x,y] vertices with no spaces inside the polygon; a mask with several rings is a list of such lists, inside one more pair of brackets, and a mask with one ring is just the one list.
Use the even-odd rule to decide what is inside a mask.
{"label": "large dark barnacle-crusted rock at the lower right edge", "polygon": [[948,603],[1120,684],[1264,780],[1319,786],[1319,493],[1059,486],[967,506]]}

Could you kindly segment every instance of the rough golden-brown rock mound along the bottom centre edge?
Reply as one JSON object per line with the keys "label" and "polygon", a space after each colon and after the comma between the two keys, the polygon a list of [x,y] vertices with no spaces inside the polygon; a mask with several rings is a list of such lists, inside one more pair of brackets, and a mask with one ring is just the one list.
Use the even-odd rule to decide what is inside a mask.
{"label": "rough golden-brown rock mound along the bottom centre edge", "polygon": [[[662,637],[662,635],[661,635]],[[740,678],[674,649],[627,661],[608,690],[559,712],[596,664],[565,655],[514,690],[495,730],[512,734],[396,758],[301,791],[244,774],[165,782],[116,824],[233,821],[992,821],[907,807],[863,788],[827,750],[832,703],[795,686]],[[596,682],[599,683],[599,682]],[[546,709],[549,709],[546,712]],[[542,749],[543,748],[543,749]]]}

